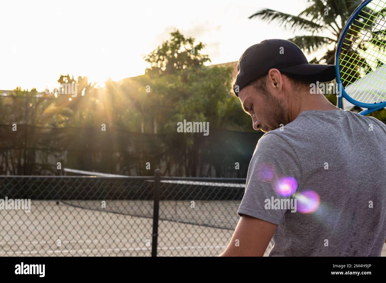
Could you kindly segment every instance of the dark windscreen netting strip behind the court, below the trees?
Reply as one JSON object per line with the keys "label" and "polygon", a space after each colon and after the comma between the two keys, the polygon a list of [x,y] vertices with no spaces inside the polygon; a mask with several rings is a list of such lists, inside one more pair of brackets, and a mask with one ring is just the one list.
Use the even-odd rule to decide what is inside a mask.
{"label": "dark windscreen netting strip behind the court, below the trees", "polygon": [[[148,176],[245,178],[262,132],[142,134],[107,127],[0,126],[1,175],[61,175],[61,168]],[[151,166],[147,170],[146,164]]]}

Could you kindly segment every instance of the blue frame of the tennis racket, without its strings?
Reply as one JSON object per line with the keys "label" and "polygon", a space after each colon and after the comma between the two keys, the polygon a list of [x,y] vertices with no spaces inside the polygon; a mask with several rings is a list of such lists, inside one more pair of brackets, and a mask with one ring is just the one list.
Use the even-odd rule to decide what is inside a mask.
{"label": "blue frame of the tennis racket, without its strings", "polygon": [[[338,45],[337,45],[337,50],[335,52],[335,73],[336,73],[337,84],[338,84],[338,88],[337,88],[338,105],[337,105],[337,107],[341,108],[341,106],[342,106],[342,97],[344,97],[347,101],[349,101],[350,103],[352,103],[352,104],[354,104],[356,106],[359,106],[359,107],[362,107],[362,108],[367,108],[367,109],[359,112],[359,114],[362,114],[362,115],[367,115],[367,114],[370,114],[371,112],[374,112],[374,111],[377,111],[379,109],[382,109],[382,108],[386,107],[386,101],[378,102],[378,103],[364,103],[364,102],[359,102],[359,101],[351,98],[347,94],[345,89],[342,87],[342,82],[340,80],[340,75],[339,75],[339,54],[340,54],[340,48],[342,47],[342,42],[343,42],[343,39],[344,39],[344,35],[346,34],[347,30],[349,29],[351,23],[354,21],[355,17],[359,14],[359,12],[361,12],[362,8],[365,7],[371,1],[372,0],[365,0],[365,1],[363,1],[361,3],[361,5],[359,5],[359,7],[356,8],[354,13],[352,13],[350,18],[347,20],[347,22],[344,25],[344,28],[342,30],[342,33],[340,33],[339,40],[338,40]],[[339,93],[340,90],[342,90],[341,94]]]}

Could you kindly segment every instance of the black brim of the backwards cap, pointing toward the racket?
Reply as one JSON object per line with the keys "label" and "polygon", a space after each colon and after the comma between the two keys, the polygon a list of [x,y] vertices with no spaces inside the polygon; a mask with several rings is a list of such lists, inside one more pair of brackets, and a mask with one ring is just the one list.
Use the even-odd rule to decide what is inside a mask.
{"label": "black brim of the backwards cap, pointing toward the racket", "polygon": [[304,75],[319,82],[330,82],[336,78],[334,65],[299,64],[278,68],[278,70],[293,75]]}

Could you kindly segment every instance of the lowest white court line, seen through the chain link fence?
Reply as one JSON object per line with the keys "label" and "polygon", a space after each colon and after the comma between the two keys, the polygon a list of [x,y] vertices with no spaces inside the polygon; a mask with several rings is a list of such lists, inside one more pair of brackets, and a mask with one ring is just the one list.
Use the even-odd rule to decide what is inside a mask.
{"label": "lowest white court line, seen through the chain link fence", "polygon": [[[185,247],[163,247],[157,248],[157,250],[189,250],[189,249],[210,249],[210,248],[226,248],[227,246],[185,246]],[[94,251],[146,251],[151,250],[151,248],[124,248],[124,249],[86,249],[86,250],[63,250],[63,251],[44,251],[44,253],[86,253],[86,252],[94,252]],[[41,253],[41,251],[15,251],[15,252],[0,252],[0,255],[17,255],[17,254],[36,254]]]}

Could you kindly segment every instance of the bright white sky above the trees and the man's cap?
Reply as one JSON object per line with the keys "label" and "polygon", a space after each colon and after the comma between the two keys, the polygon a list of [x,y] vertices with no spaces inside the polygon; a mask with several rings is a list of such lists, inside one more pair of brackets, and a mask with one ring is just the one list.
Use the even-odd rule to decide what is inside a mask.
{"label": "bright white sky above the trees and the man's cap", "polygon": [[100,85],[144,74],[144,55],[174,28],[206,43],[212,64],[237,61],[252,44],[293,36],[276,23],[249,20],[252,13],[305,7],[305,0],[2,1],[0,89],[52,89],[60,74]]}

